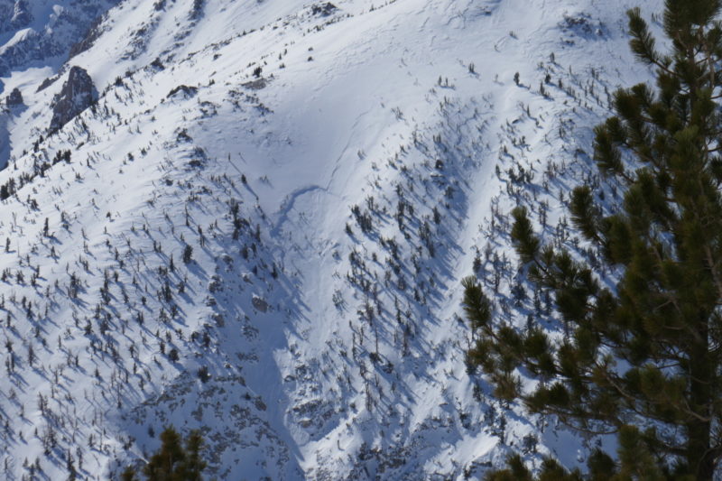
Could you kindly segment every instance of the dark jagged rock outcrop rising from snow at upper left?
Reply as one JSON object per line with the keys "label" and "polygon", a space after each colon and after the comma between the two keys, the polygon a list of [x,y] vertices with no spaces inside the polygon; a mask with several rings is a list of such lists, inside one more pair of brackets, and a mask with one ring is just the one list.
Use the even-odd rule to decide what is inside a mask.
{"label": "dark jagged rock outcrop rising from snow at upper left", "polygon": [[52,99],[51,132],[60,130],[96,100],[97,90],[88,72],[78,66],[72,67],[60,93]]}

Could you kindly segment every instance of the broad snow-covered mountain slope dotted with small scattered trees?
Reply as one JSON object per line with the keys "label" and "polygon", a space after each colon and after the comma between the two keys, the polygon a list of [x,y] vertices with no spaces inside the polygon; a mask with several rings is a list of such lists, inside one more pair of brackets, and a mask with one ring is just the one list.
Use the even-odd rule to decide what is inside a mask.
{"label": "broad snow-covered mountain slope dotted with small scattered trees", "polygon": [[[506,213],[577,243],[591,129],[649,78],[635,4],[125,0],[67,63],[0,70],[23,97],[0,113],[3,476],[113,478],[168,424],[204,431],[218,479],[582,462],[593,440],[467,373],[459,279],[543,309]],[[56,131],[96,95],[81,69],[97,103]]]}

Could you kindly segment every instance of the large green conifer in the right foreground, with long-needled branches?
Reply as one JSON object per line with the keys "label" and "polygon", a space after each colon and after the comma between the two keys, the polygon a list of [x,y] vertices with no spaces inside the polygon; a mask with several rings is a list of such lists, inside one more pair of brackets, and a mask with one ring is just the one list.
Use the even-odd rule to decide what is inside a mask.
{"label": "large green conifer in the right foreground, with long-needled branches", "polygon": [[[589,479],[708,481],[722,455],[721,3],[666,0],[666,54],[639,9],[628,12],[632,50],[656,86],[617,91],[616,116],[595,140],[597,167],[624,200],[605,215],[582,186],[570,202],[575,227],[619,273],[616,288],[578,256],[543,245],[521,207],[514,246],[530,280],[554,294],[567,335],[495,322],[480,284],[463,281],[475,333],[467,361],[496,395],[580,432],[618,436],[616,461],[595,452]],[[523,387],[519,369],[539,383]],[[541,476],[580,478],[552,461]],[[513,458],[489,479],[532,476]]]}

